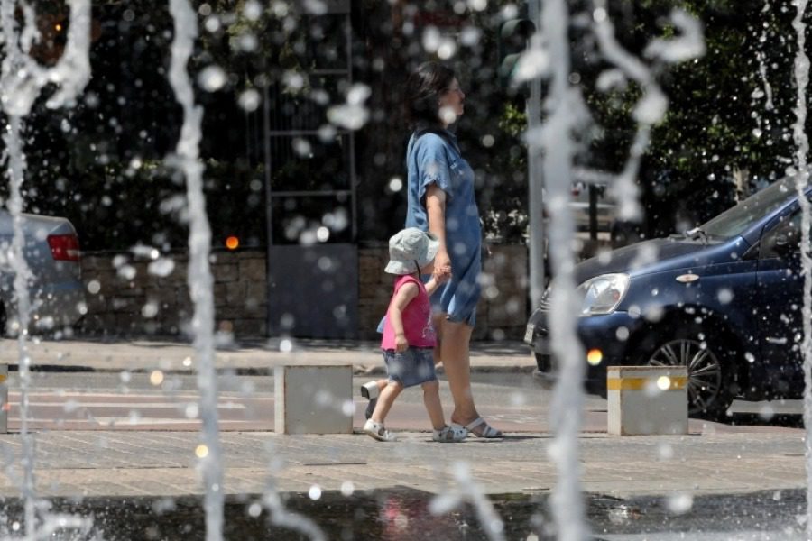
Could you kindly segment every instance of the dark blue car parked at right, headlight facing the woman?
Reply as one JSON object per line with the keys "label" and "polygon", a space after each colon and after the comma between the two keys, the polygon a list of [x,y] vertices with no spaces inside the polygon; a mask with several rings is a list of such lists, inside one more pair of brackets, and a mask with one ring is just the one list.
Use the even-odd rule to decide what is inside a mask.
{"label": "dark blue car parked at right, headlight facing the woman", "polygon": [[[737,397],[801,397],[800,225],[795,181],[783,179],[686,234],[578,264],[587,386],[605,392],[607,366],[683,364],[694,417],[724,417]],[[525,341],[551,381],[548,296]]]}

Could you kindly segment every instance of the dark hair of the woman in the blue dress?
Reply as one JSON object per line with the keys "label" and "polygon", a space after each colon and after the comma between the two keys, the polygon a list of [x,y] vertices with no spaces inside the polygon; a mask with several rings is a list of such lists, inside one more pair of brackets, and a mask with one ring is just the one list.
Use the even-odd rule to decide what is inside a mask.
{"label": "dark hair of the woman in the blue dress", "polygon": [[454,70],[438,62],[423,62],[406,80],[403,115],[410,126],[440,124],[439,96],[448,91]]}

